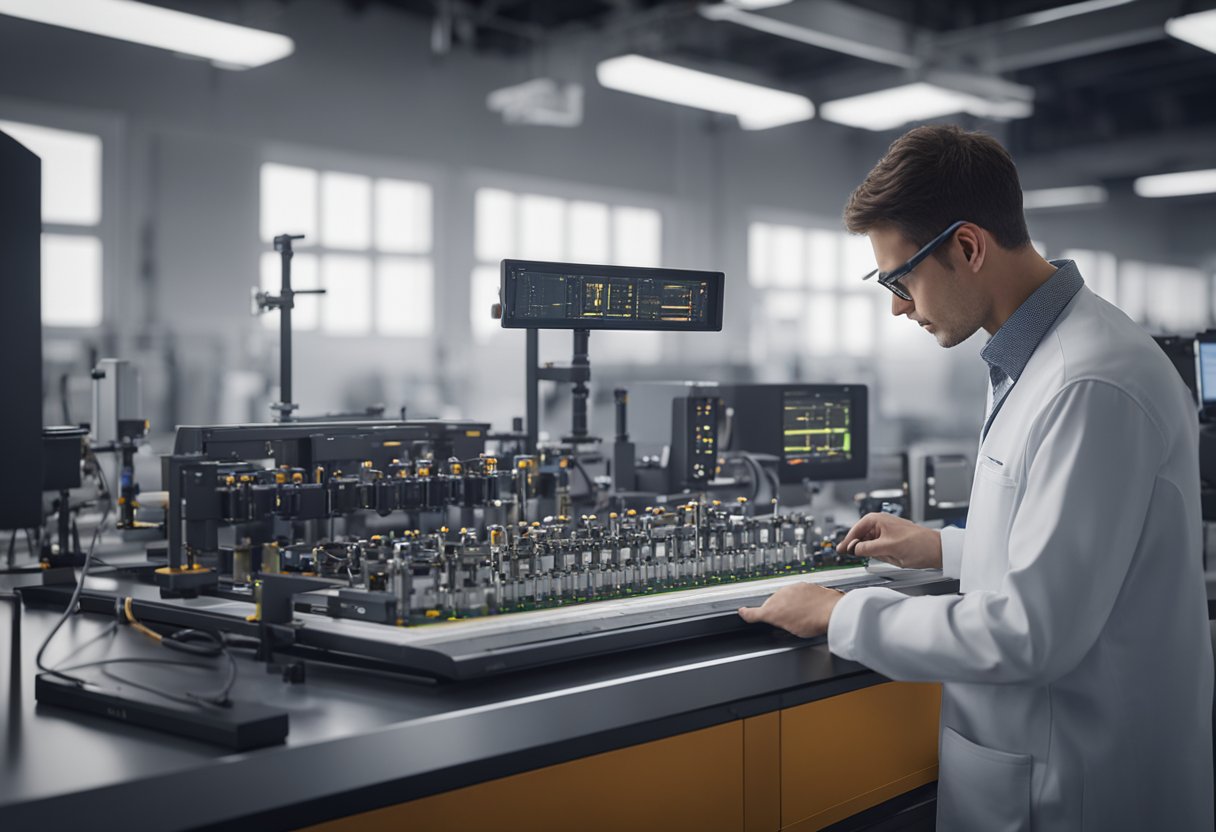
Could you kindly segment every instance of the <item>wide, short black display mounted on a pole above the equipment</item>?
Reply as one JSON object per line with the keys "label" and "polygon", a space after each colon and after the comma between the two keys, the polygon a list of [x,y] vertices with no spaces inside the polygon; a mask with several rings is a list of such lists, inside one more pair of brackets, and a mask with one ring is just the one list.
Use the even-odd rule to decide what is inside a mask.
{"label": "wide, short black display mounted on a pole above the equipment", "polygon": [[502,326],[717,332],[724,280],[721,271],[503,260]]}

